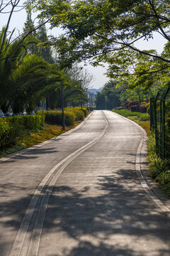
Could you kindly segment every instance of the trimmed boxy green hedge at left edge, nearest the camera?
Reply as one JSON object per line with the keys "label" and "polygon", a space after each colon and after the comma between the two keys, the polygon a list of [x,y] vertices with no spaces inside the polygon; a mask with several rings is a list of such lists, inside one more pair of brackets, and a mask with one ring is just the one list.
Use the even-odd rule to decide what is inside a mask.
{"label": "trimmed boxy green hedge at left edge, nearest the camera", "polygon": [[0,118],[0,149],[16,144],[24,132],[40,129],[44,125],[44,114]]}

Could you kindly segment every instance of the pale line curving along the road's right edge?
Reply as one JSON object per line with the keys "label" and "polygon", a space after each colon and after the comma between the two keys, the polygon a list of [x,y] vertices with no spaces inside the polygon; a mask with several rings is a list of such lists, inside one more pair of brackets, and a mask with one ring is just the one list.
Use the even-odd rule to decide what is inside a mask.
{"label": "pale line curving along the road's right edge", "polygon": [[[113,112],[114,114],[117,114],[115,112]],[[120,114],[118,114],[118,116],[120,116]],[[123,116],[120,116],[123,117]],[[141,151],[142,151],[142,146],[144,145],[144,142],[147,141],[147,133],[145,131],[145,129],[143,129],[139,124],[133,122],[132,120],[123,117],[124,119],[128,120],[129,122],[132,122],[132,124],[135,124],[137,127],[139,127],[142,132],[143,132],[143,137],[141,138],[140,141],[140,145],[138,146],[137,149],[137,154],[136,154],[136,163],[135,163],[135,171],[137,174],[137,178],[139,179],[142,188],[144,188],[145,192],[147,193],[147,195],[152,198],[152,200],[154,201],[154,203],[157,204],[157,206],[159,206],[159,208],[166,213],[166,215],[169,216],[170,218],[170,209],[164,204],[164,202],[162,202],[156,195],[155,193],[152,191],[151,188],[149,188],[147,181],[145,181],[145,178],[142,174],[141,168],[140,168],[140,159],[141,159]]]}

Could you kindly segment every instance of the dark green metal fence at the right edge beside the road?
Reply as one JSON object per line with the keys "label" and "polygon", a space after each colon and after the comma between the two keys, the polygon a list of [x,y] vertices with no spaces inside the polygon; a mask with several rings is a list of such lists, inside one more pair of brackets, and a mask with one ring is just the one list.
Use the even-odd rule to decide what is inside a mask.
{"label": "dark green metal fence at the right edge beside the road", "polygon": [[154,128],[157,154],[170,159],[170,84],[150,102],[151,126]]}

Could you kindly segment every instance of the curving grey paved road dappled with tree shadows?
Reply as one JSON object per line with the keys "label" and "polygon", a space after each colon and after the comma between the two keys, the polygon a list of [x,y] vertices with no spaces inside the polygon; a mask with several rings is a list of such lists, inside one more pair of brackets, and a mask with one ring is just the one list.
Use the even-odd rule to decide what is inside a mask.
{"label": "curving grey paved road dappled with tree shadows", "polygon": [[2,159],[0,255],[170,255],[169,215],[135,171],[143,136],[95,111],[72,132]]}

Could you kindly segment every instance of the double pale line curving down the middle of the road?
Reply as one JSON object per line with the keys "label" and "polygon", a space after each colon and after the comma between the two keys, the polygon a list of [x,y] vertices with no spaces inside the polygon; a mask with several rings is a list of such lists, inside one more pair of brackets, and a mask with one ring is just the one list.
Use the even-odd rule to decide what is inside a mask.
{"label": "double pale line curving down the middle of the road", "polygon": [[[89,149],[91,146],[94,146],[98,142],[101,137],[106,133],[108,129],[108,120],[106,115],[104,114],[104,118],[106,121],[105,128],[101,135],[96,139],[92,140],[88,144],[81,146],[81,148],[74,151],[72,154],[67,156],[65,159],[60,161],[55,167],[53,167],[48,174],[43,178],[40,185],[36,189],[33,197],[30,200],[30,204],[26,210],[26,214],[21,223],[21,227],[18,230],[18,234],[16,235],[16,240],[13,243],[13,247],[11,249],[11,253],[9,256],[37,256],[38,249],[40,245],[40,237],[42,233],[42,226],[45,220],[45,212],[47,210],[47,204],[52,193],[52,188],[55,186],[57,178],[59,178],[62,171],[67,167],[69,163],[71,163],[77,156],[83,153],[86,149]],[[51,178],[49,185],[47,186],[45,192],[42,190],[45,188],[47,181]],[[40,200],[40,203],[38,199]],[[38,215],[33,224],[30,223],[31,218],[33,217],[33,213],[38,208]],[[33,225],[33,227],[32,227]]]}

